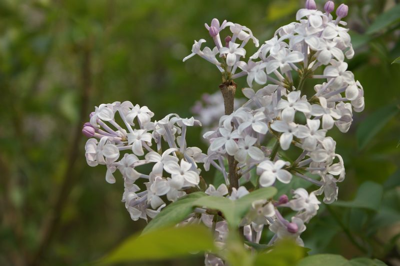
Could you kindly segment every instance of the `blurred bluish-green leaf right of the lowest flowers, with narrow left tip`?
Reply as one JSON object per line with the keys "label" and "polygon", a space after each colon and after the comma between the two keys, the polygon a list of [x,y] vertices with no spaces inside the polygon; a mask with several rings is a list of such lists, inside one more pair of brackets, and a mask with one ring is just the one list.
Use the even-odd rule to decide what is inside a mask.
{"label": "blurred bluish-green leaf right of the lowest flowers, with narrow left tip", "polygon": [[337,201],[332,203],[335,206],[348,208],[363,208],[373,211],[379,210],[380,202],[383,196],[381,185],[366,181],[358,188],[357,194],[352,201]]}

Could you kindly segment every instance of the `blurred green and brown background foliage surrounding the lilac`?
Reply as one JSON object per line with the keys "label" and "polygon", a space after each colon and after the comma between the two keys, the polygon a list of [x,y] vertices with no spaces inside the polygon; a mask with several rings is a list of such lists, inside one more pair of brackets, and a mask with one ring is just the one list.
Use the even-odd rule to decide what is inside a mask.
{"label": "blurred green and brown background foliage surrounding the lilac", "polygon": [[[341,202],[321,206],[302,238],[312,254],[400,265],[400,64],[391,64],[400,56],[400,8],[396,0],[335,5],[342,2],[355,50],[349,70],[363,85],[365,110],[354,113],[347,134],[330,131],[346,167]],[[205,60],[182,63],[194,39],[210,41],[204,22],[246,25],[262,43],[303,4],[1,0],[0,265],[86,264],[140,231],[145,222],[131,221],[120,202],[123,183],[110,185],[105,167],[86,165],[80,130],[88,114],[129,100],[156,119],[191,116],[194,102],[220,83]],[[201,129],[190,130],[188,144],[204,148]],[[202,264],[201,256],[157,263]]]}

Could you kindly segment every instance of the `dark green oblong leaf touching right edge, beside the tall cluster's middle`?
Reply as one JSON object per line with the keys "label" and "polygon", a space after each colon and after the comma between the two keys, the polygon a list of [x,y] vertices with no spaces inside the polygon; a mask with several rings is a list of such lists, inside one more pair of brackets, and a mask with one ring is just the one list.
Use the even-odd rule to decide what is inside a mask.
{"label": "dark green oblong leaf touching right edge, beside the tall cluster's middle", "polygon": [[360,150],[365,148],[369,141],[398,113],[398,111],[399,108],[396,105],[386,105],[365,118],[359,124],[355,133],[358,148]]}

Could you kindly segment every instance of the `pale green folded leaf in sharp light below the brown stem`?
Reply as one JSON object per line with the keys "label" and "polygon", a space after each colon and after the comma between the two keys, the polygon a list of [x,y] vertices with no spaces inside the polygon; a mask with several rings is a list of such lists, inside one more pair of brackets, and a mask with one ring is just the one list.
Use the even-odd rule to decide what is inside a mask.
{"label": "pale green folded leaf in sharp light below the brown stem", "polygon": [[235,201],[222,197],[208,196],[199,198],[195,204],[199,207],[221,211],[229,225],[237,227],[240,224],[240,220],[250,209],[251,203],[256,200],[269,199],[275,194],[276,189],[269,187],[257,189]]}

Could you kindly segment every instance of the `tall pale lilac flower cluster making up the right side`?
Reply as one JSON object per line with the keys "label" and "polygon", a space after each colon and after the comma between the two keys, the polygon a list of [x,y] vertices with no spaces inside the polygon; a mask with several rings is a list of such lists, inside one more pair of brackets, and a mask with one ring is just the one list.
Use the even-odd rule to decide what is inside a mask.
{"label": "tall pale lilac flower cluster making up the right side", "polygon": [[[336,142],[327,136],[327,131],[335,126],[347,132],[352,111],[360,112],[364,108],[362,86],[344,62],[354,54],[348,29],[343,27],[346,23],[341,20],[347,15],[347,9],[346,5],[339,5],[334,19],[330,14],[334,10],[332,1],[325,3],[323,12],[316,9],[313,0],[307,0],[306,8],[296,13],[297,21],[276,30],[247,61],[241,61],[246,54],[247,40],[254,40],[258,46],[251,31],[226,21],[219,26],[214,18],[206,28],[215,47],[201,51],[199,45],[205,42],[201,39],[195,42],[188,56],[200,55],[231,80],[246,76],[249,86],[242,89],[247,102],[222,116],[218,127],[204,134],[210,142],[205,169],[214,165],[229,185],[223,161],[233,156],[242,183],[250,180],[254,169],[260,187],[274,186],[276,182],[288,184],[292,176],[317,187],[311,193],[298,188],[293,191],[292,200],[284,196],[274,203],[274,216],[265,214],[260,223],[269,225],[269,230],[275,233],[270,243],[291,236],[301,244],[299,235],[305,230],[304,223],[316,214],[320,204],[316,195],[323,194],[323,202],[332,203],[337,199],[336,183],[344,179],[343,160],[335,152]],[[225,47],[221,47],[219,33],[225,27],[229,27],[232,35],[225,38]],[[207,51],[212,51],[212,58]],[[241,71],[236,73],[237,69]],[[321,81],[311,91],[304,88],[307,79]],[[254,90],[254,82],[263,87]],[[268,144],[274,139],[277,142],[270,148]],[[290,148],[297,150],[297,158],[289,161],[279,156],[279,149]],[[278,208],[290,208],[297,214],[289,222]],[[259,240],[259,224],[253,220],[249,225],[252,229],[249,232],[256,235],[249,240]]]}

